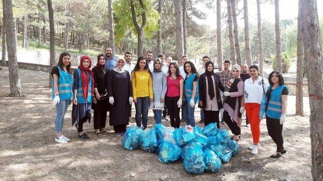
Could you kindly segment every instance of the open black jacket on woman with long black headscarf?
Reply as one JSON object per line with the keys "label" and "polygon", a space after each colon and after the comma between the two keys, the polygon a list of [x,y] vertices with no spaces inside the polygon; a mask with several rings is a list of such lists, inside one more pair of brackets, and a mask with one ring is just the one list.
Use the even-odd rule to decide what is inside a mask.
{"label": "open black jacket on woman with long black headscarf", "polygon": [[[222,100],[220,96],[220,90],[224,92],[224,86],[222,85],[221,79],[219,74],[214,73],[214,81],[216,84],[216,95],[217,95],[217,102],[218,102],[218,108],[219,110],[223,108]],[[206,107],[206,81],[205,81],[206,75],[205,73],[201,74],[198,80],[198,91],[200,96],[200,101],[202,101],[202,106],[198,106],[199,108],[205,109]]]}

